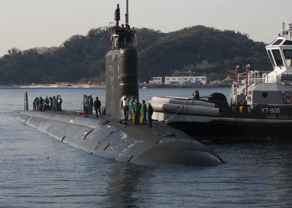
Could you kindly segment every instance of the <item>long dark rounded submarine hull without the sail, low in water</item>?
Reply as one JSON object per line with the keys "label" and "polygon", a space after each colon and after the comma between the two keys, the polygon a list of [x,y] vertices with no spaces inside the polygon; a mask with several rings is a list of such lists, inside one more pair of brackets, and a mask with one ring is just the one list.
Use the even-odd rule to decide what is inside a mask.
{"label": "long dark rounded submarine hull without the sail, low in water", "polygon": [[[217,166],[223,160],[205,145],[170,126],[121,124],[115,119],[78,117],[78,112],[25,110],[17,117],[60,142],[90,154],[138,165]],[[175,137],[166,137],[175,132]]]}

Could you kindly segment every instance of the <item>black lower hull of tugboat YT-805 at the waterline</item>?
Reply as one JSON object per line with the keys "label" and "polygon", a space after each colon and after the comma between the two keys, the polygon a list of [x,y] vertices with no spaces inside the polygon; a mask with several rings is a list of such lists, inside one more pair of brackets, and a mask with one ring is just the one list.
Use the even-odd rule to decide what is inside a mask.
{"label": "black lower hull of tugboat YT-805 at the waterline", "polygon": [[171,126],[183,130],[196,139],[277,139],[291,140],[292,123],[258,123],[210,121],[173,122]]}

